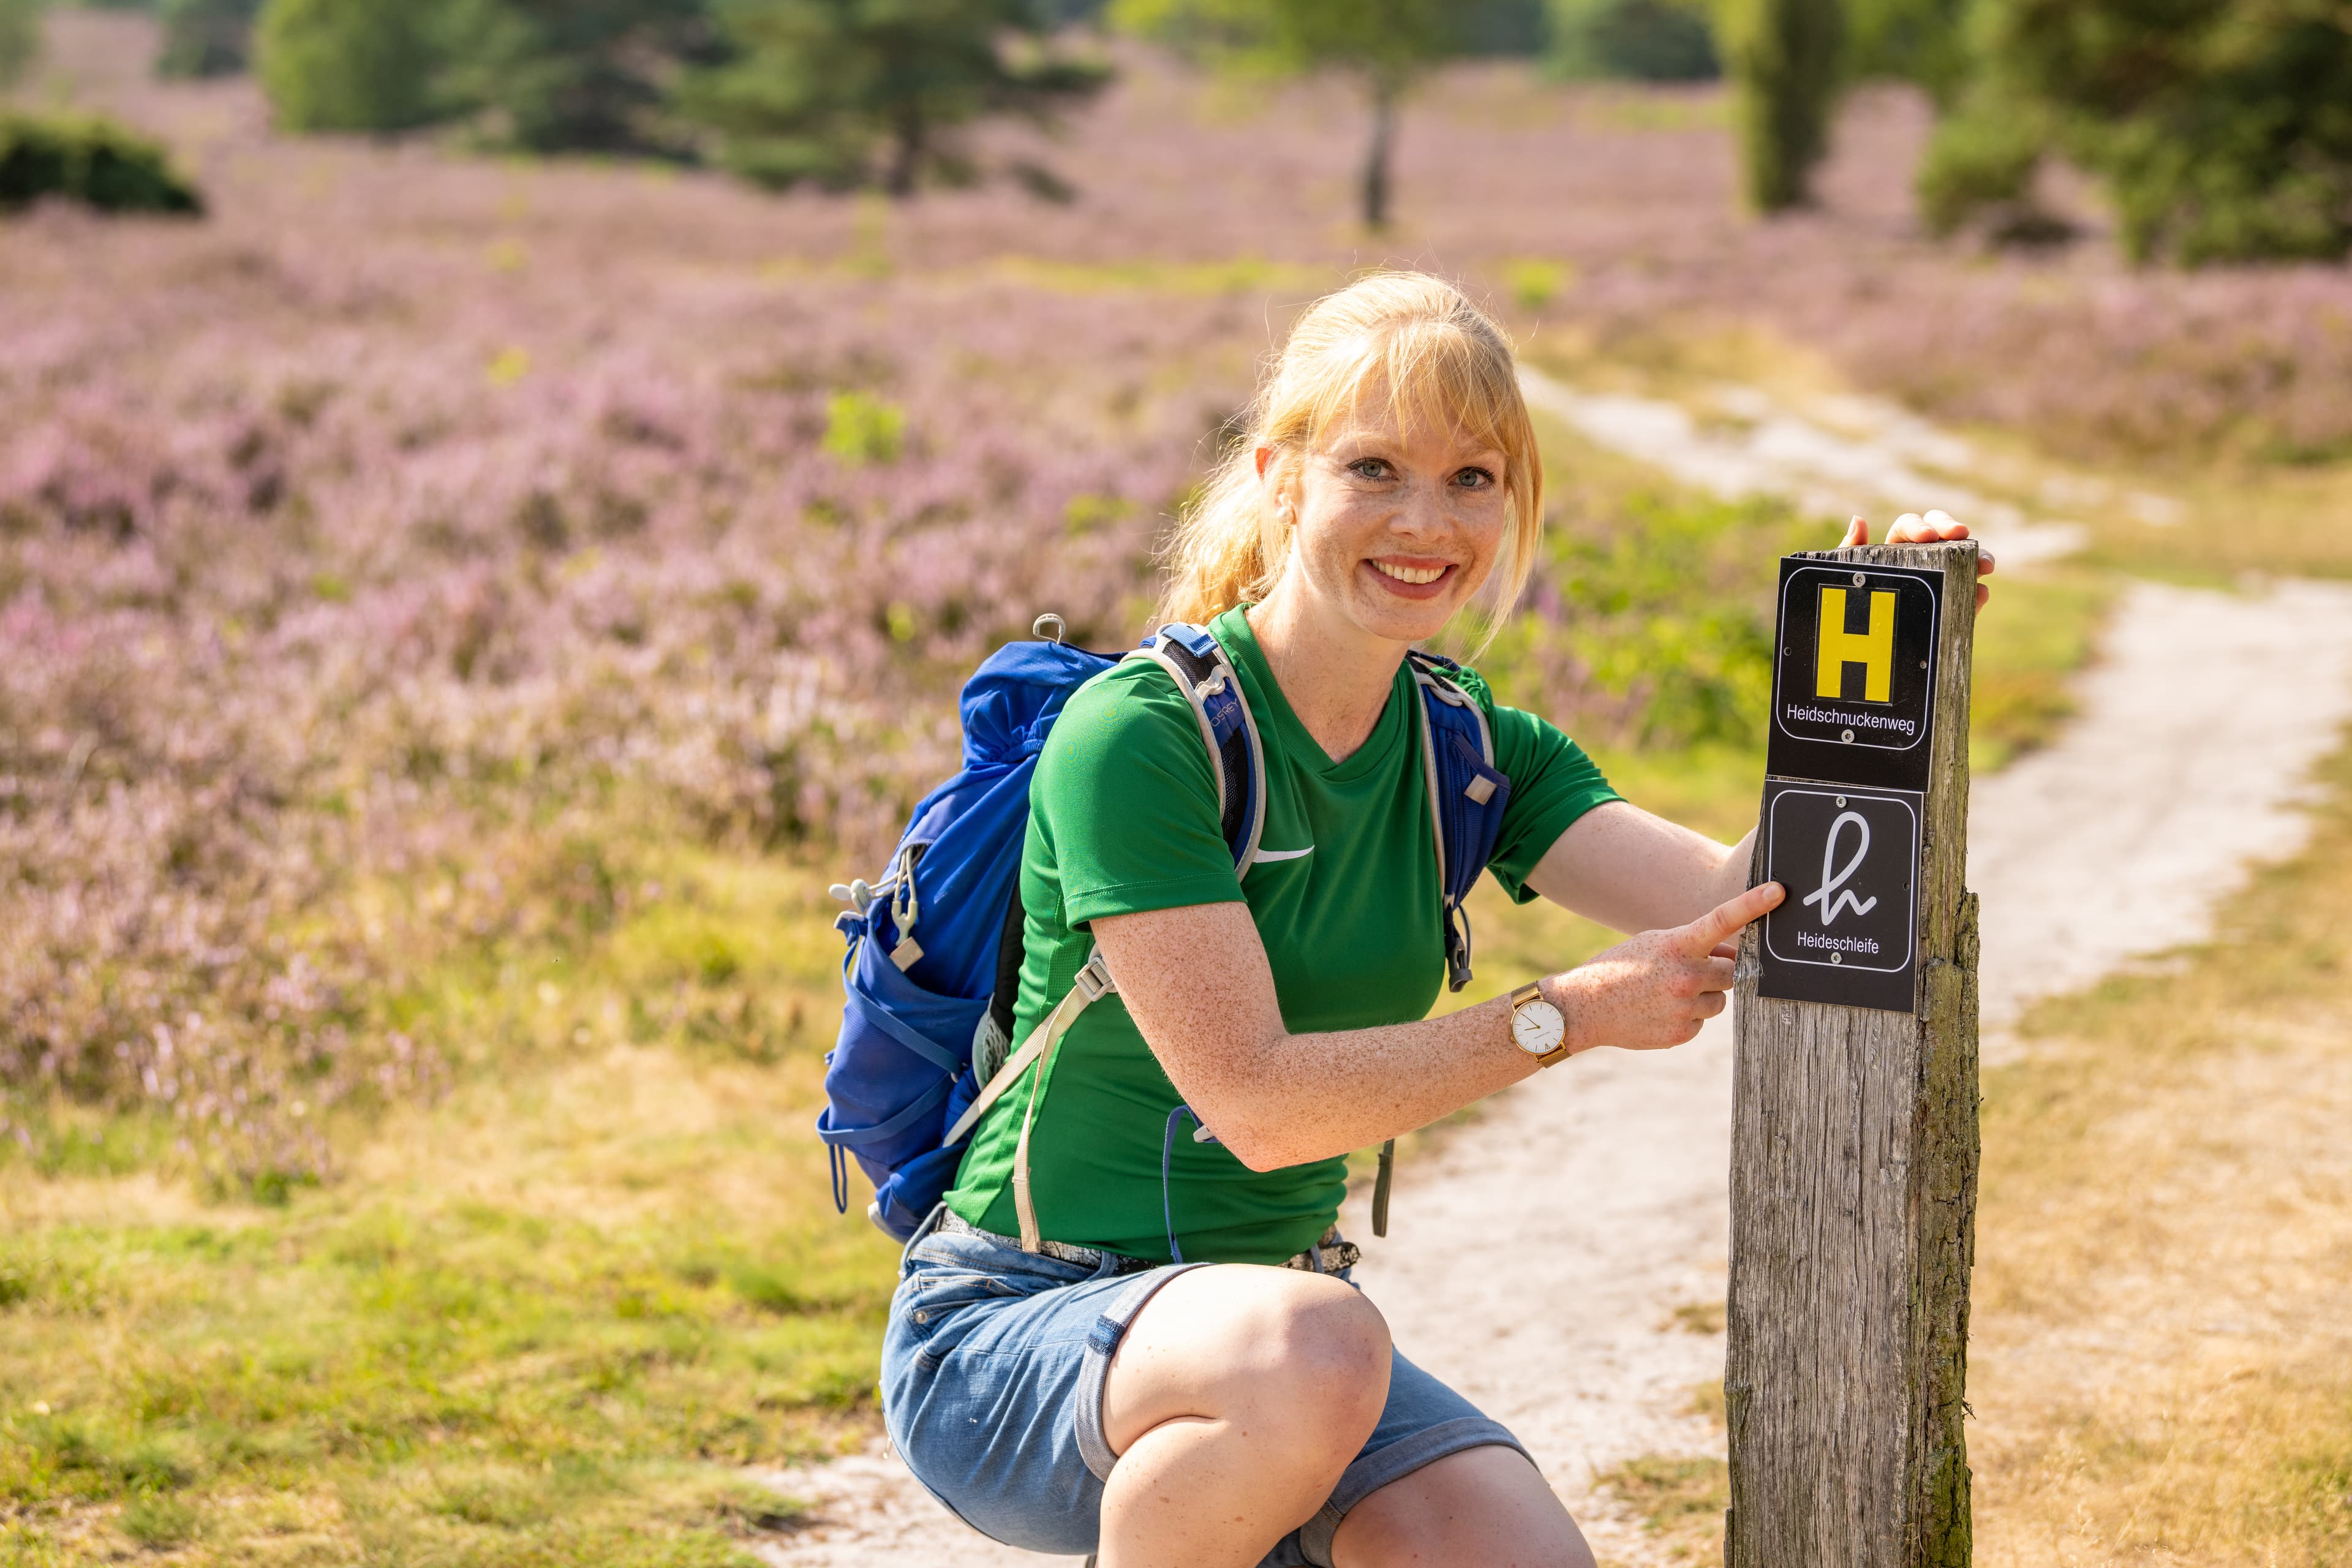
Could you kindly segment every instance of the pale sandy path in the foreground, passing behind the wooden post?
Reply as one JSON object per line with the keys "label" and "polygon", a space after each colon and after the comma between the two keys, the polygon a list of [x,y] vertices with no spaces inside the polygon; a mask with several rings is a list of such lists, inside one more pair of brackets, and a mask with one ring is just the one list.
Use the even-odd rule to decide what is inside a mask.
{"label": "pale sandy path in the foreground, passing behind the wooden post", "polygon": [[[1971,802],[1987,1048],[2034,997],[2201,938],[2251,858],[2293,853],[2303,780],[2352,719],[2352,590],[2138,585],[2082,703]],[[1651,1552],[1595,1474],[1719,1453],[1691,1389],[1722,1375],[1724,1342],[1675,1309],[1722,1300],[1729,1140],[1729,1023],[1679,1051],[1599,1051],[1406,1164],[1359,1269],[1397,1345],[1529,1443],[1611,1563]],[[1364,1213],[1345,1222],[1369,1237]],[[1042,1561],[971,1535],[880,1453],[776,1481],[821,1519],[764,1547],[779,1566]]]}

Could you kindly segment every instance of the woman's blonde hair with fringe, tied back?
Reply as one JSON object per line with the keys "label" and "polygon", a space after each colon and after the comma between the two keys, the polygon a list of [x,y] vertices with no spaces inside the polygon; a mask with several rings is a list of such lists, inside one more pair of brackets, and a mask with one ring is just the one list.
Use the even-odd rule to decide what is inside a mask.
{"label": "woman's blonde hair with fringe, tied back", "polygon": [[[1289,562],[1289,529],[1268,505],[1298,458],[1385,383],[1399,425],[1432,421],[1503,454],[1510,524],[1479,590],[1484,649],[1519,602],[1543,534],[1543,458],[1519,397],[1510,339],[1470,299],[1428,273],[1374,273],[1315,301],[1275,357],[1247,425],[1200,498],[1176,520],[1155,623],[1209,621],[1263,599]],[[1272,447],[1268,487],[1256,451]],[[1287,468],[1275,475],[1272,465]]]}

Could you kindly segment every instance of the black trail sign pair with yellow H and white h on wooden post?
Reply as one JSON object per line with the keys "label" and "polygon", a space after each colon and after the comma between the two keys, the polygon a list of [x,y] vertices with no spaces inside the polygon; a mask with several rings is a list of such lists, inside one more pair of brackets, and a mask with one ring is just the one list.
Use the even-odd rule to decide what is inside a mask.
{"label": "black trail sign pair with yellow H and white h on wooden post", "polygon": [[1762,992],[1910,1013],[1943,574],[1785,557],[1757,830]]}

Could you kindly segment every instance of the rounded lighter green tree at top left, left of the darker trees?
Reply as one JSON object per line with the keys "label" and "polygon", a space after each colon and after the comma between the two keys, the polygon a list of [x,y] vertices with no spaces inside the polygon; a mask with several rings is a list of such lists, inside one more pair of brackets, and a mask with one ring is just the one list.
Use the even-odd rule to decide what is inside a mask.
{"label": "rounded lighter green tree at top left, left of the darker trees", "polygon": [[280,129],[400,132],[447,113],[426,0],[268,0],[254,71]]}

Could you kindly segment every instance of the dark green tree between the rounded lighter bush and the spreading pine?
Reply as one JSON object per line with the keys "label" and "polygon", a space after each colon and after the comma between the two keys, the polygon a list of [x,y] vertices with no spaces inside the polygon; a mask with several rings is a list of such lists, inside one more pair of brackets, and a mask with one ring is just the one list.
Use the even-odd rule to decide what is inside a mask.
{"label": "dark green tree between the rounded lighter bush and the spreading pine", "polygon": [[532,153],[677,153],[680,66],[717,59],[703,0],[442,0],[440,92]]}

